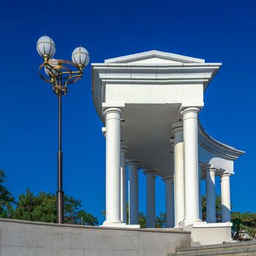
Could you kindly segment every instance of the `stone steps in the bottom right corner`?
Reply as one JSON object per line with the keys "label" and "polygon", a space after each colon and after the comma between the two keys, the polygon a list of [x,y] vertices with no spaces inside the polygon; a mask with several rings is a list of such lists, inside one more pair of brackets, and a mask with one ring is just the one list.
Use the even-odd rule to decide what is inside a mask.
{"label": "stone steps in the bottom right corner", "polygon": [[214,244],[205,246],[191,246],[186,248],[176,248],[176,254],[168,256],[247,256],[256,255],[256,241],[243,241],[225,244]]}

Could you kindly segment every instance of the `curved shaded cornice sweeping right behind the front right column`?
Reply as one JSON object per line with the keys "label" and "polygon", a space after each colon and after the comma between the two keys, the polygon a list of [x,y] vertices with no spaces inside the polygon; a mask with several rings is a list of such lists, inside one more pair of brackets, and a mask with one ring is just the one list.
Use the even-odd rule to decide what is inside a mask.
{"label": "curved shaded cornice sweeping right behind the front right column", "polygon": [[238,159],[241,155],[245,154],[245,151],[241,151],[239,149],[234,148],[233,146],[229,146],[225,143],[220,142],[219,140],[215,140],[212,138],[205,129],[203,129],[200,121],[198,122],[198,140],[200,146],[203,146],[208,151],[212,151],[215,154],[221,155],[227,159]]}

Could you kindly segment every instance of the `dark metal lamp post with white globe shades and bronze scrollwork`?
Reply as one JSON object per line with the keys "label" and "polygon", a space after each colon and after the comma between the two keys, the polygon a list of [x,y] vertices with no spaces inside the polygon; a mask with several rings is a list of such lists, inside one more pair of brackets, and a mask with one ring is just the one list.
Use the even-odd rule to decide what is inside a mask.
{"label": "dark metal lamp post with white globe shades and bronze scrollwork", "polygon": [[[53,92],[59,99],[59,151],[58,151],[58,190],[57,198],[57,222],[64,223],[64,191],[62,189],[62,157],[61,150],[61,98],[67,95],[67,86],[75,83],[83,75],[83,69],[89,64],[89,53],[86,48],[78,47],[72,52],[72,61],[52,59],[56,52],[53,39],[47,36],[40,37],[37,41],[37,52],[44,62],[39,66],[39,76],[45,82],[50,83]],[[44,68],[43,68],[44,67]]]}

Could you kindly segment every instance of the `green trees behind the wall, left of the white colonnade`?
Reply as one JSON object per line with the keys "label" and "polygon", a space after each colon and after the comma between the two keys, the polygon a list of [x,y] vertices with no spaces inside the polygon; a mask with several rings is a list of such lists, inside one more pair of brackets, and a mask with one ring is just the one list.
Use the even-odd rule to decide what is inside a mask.
{"label": "green trees behind the wall, left of the white colonnade", "polygon": [[[0,217],[35,222],[56,222],[56,195],[45,192],[39,192],[38,195],[34,195],[27,189],[26,194],[20,195],[16,203],[14,197],[3,185],[4,178],[4,172],[0,171]],[[84,211],[81,207],[81,200],[65,195],[64,223],[98,225],[97,218]]]}

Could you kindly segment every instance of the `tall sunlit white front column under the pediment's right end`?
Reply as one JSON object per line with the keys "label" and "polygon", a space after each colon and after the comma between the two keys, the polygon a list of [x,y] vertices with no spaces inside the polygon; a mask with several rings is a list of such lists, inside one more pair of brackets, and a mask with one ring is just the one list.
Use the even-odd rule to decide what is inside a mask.
{"label": "tall sunlit white front column under the pediment's right end", "polygon": [[185,223],[199,222],[198,198],[198,135],[197,122],[199,108],[186,108],[183,116],[184,138],[184,187],[185,187]]}

